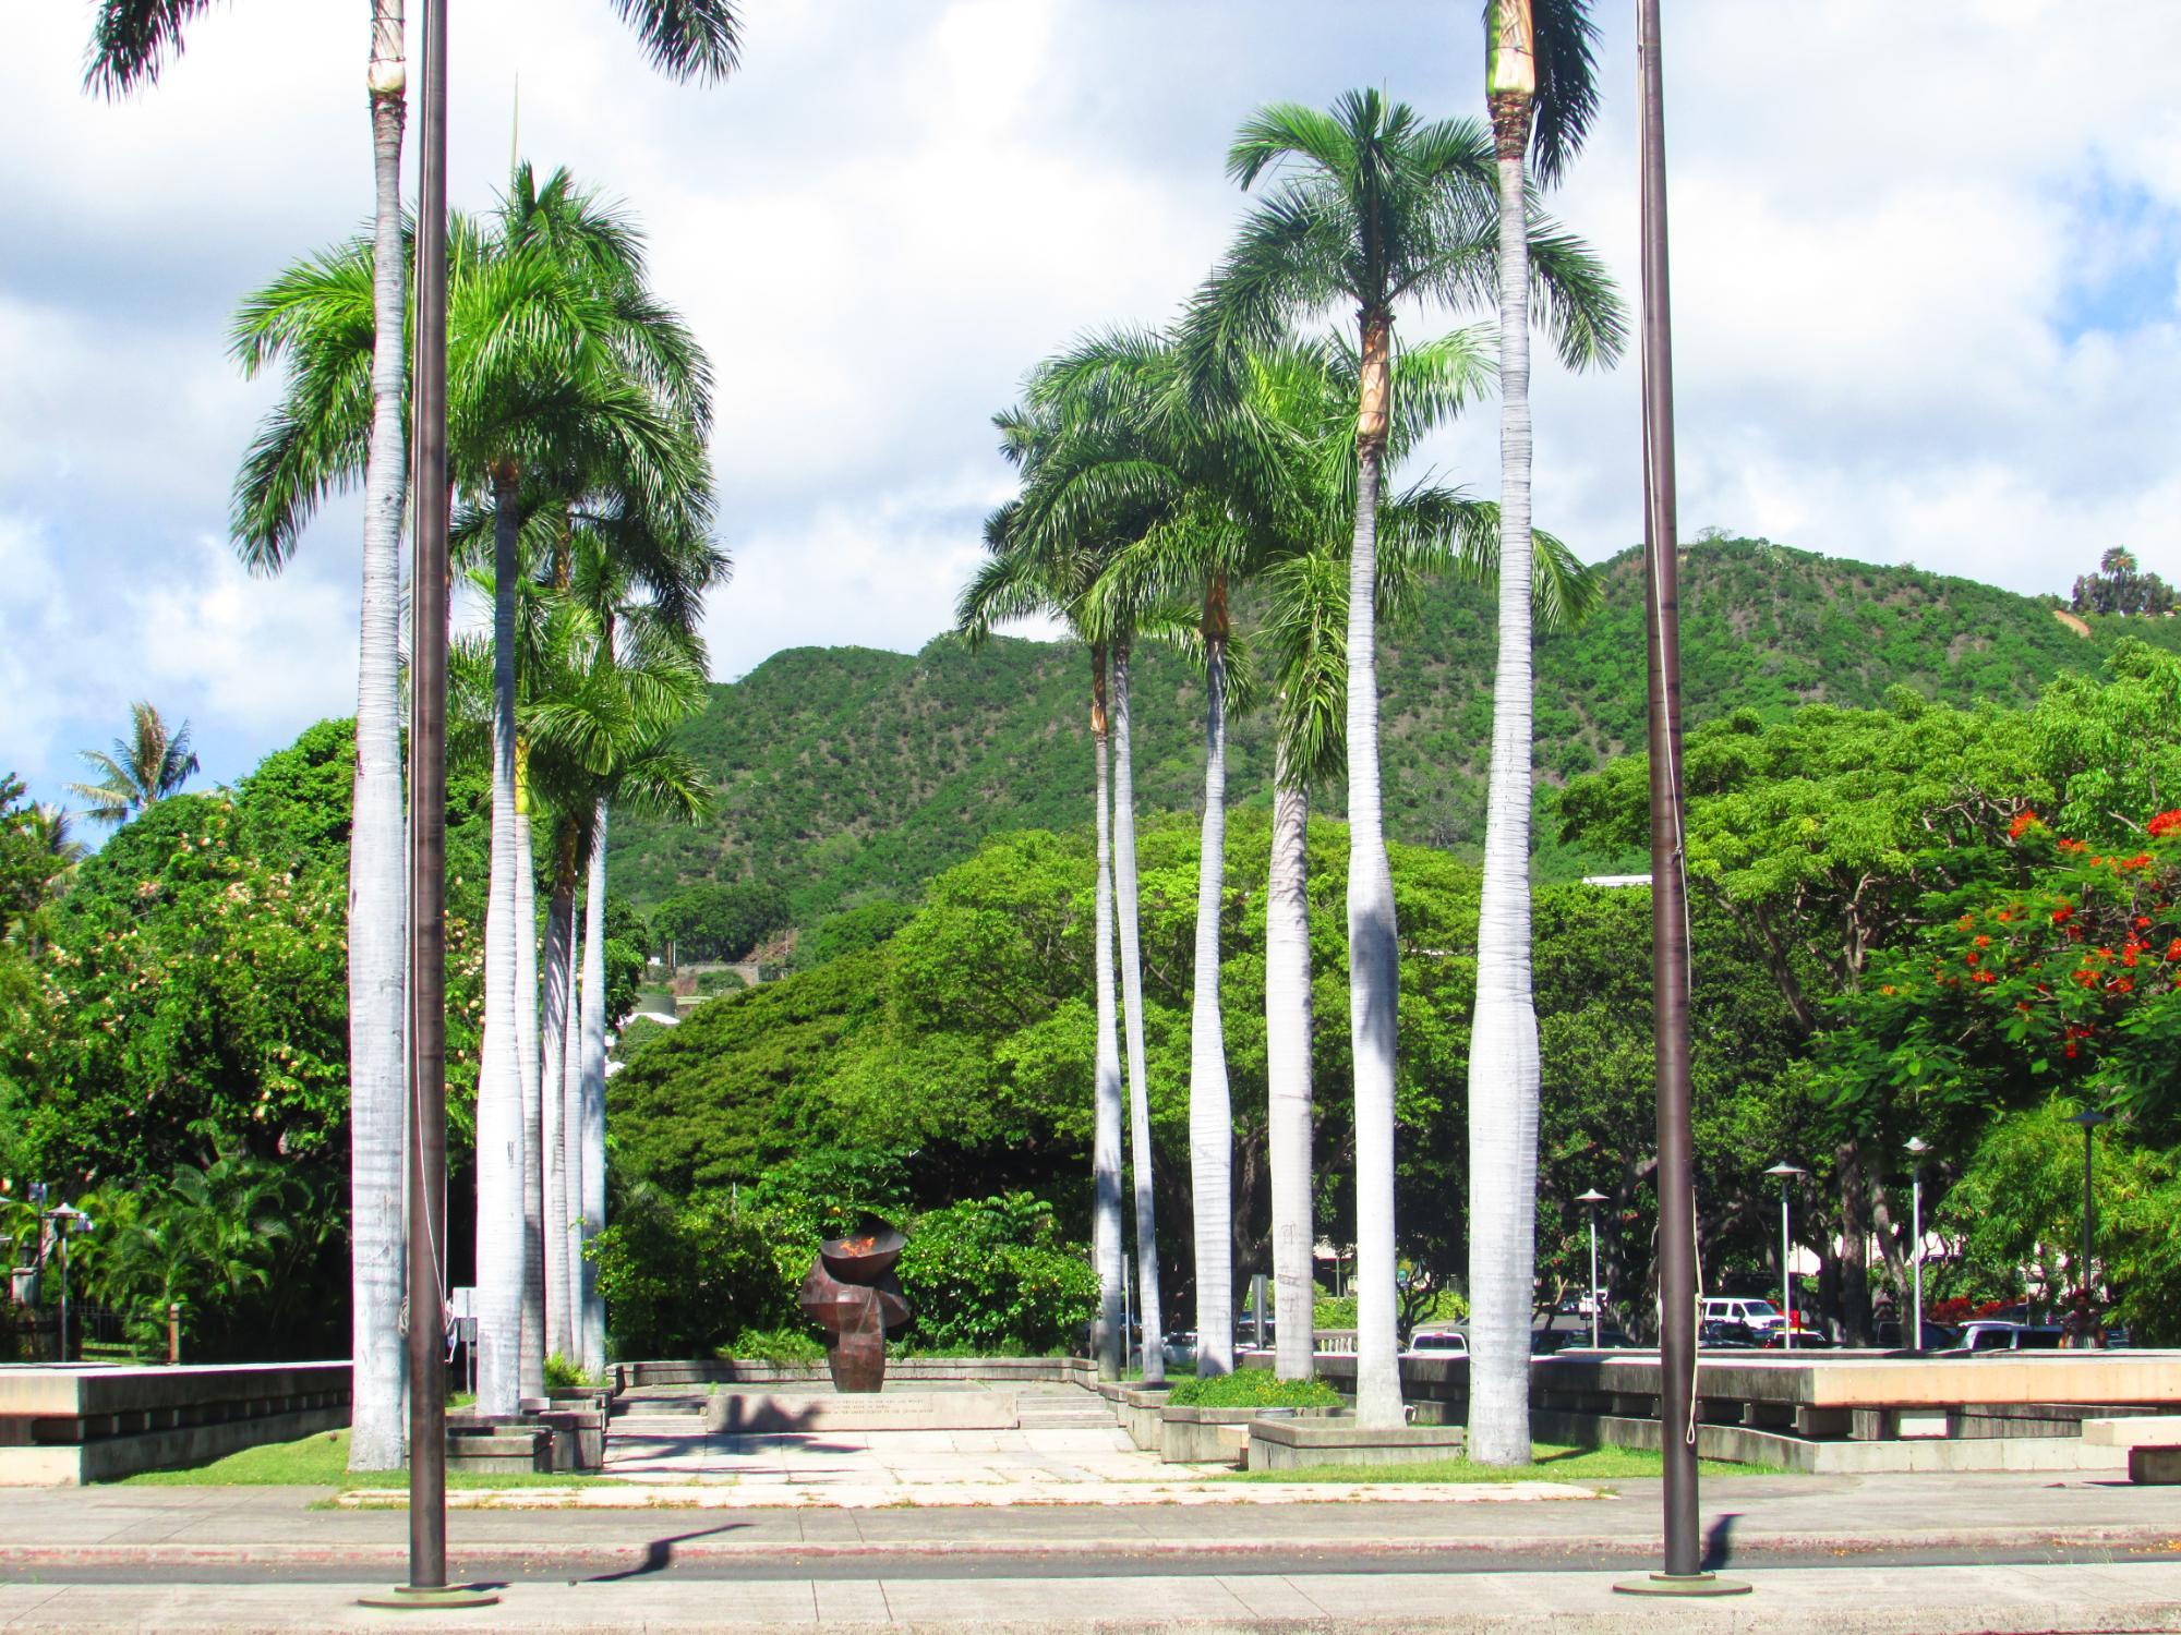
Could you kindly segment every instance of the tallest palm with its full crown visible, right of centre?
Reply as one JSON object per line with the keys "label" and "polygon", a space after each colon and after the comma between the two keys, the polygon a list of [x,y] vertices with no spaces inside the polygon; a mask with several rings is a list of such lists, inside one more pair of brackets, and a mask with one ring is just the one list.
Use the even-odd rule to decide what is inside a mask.
{"label": "tallest palm with its full crown visible, right of centre", "polygon": [[[1378,491],[1391,427],[1394,312],[1402,301],[1470,305],[1492,288],[1498,196],[1483,131],[1422,122],[1378,92],[1330,111],[1258,109],[1234,137],[1228,174],[1252,187],[1287,174],[1243,220],[1197,292],[1182,331],[1193,390],[1221,395],[1243,347],[1291,320],[1357,316],[1357,497],[1348,552],[1348,996],[1357,1127],[1357,1415],[1398,1424],[1394,1293],[1394,1044],[1400,944],[1378,791]],[[1620,305],[1596,259],[1542,220],[1527,222],[1531,277],[1570,364],[1612,355]],[[1522,240],[1522,222],[1511,231]],[[1505,558],[1509,576],[1516,565]],[[1527,556],[1525,556],[1527,560]]]}

